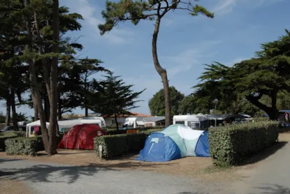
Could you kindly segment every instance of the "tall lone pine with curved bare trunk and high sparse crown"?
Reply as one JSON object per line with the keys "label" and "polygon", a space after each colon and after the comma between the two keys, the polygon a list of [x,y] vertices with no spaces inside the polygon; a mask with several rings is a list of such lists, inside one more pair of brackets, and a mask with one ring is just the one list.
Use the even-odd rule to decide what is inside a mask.
{"label": "tall lone pine with curved bare trunk and high sparse crown", "polygon": [[[196,0],[197,1],[197,0]],[[140,20],[152,20],[155,22],[154,31],[152,34],[152,57],[154,68],[161,76],[164,87],[164,103],[165,103],[165,123],[166,126],[171,124],[171,99],[169,84],[166,69],[163,68],[158,60],[157,55],[157,38],[159,36],[159,28],[162,18],[169,11],[184,10],[192,16],[205,15],[206,17],[214,17],[203,6],[193,3],[191,0],[119,0],[118,2],[107,1],[106,10],[102,11],[105,24],[99,24],[101,35],[111,31],[119,22],[130,20],[134,25],[137,25]]]}

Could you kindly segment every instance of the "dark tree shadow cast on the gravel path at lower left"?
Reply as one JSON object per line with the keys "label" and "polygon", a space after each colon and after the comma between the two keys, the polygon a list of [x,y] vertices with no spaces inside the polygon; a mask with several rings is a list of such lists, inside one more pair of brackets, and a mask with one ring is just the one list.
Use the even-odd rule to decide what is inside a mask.
{"label": "dark tree shadow cast on the gravel path at lower left", "polygon": [[[26,168],[5,168],[4,171],[0,171],[0,180],[66,182],[73,184],[80,176],[93,176],[99,171],[106,171],[106,169],[97,169],[96,167],[34,165]],[[50,176],[53,177],[50,178]],[[56,181],[57,179],[61,179],[61,181]]]}

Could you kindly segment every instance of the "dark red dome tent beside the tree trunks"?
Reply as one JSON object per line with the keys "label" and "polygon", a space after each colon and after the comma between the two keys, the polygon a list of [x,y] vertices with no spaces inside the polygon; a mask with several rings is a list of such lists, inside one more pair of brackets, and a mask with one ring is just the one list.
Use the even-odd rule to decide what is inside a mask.
{"label": "dark red dome tent beside the tree trunks", "polygon": [[93,124],[73,126],[59,142],[59,149],[94,149],[94,137],[106,135],[105,130]]}

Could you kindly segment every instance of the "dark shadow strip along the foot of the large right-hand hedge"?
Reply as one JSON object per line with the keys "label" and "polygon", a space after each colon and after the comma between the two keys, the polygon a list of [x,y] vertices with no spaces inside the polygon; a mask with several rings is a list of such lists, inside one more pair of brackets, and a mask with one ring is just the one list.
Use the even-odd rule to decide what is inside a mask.
{"label": "dark shadow strip along the foot of the large right-hand hedge", "polygon": [[257,163],[259,161],[263,161],[264,159],[275,154],[276,151],[282,149],[282,147],[284,147],[288,143],[289,142],[277,142],[277,143],[273,144],[272,147],[265,149],[265,150],[259,152],[258,154],[256,154],[255,156],[252,156],[252,157],[246,159],[240,165],[250,165],[253,163]]}

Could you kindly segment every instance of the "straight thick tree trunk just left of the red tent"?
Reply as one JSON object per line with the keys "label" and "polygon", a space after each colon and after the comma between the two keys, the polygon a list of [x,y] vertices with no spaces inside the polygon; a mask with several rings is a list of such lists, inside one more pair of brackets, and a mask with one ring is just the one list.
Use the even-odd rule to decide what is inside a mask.
{"label": "straight thick tree trunk just left of the red tent", "polygon": [[[53,1],[53,45],[52,52],[59,53],[59,1]],[[48,154],[57,154],[57,68],[58,57],[53,57],[52,66],[50,68],[50,144]]]}

